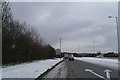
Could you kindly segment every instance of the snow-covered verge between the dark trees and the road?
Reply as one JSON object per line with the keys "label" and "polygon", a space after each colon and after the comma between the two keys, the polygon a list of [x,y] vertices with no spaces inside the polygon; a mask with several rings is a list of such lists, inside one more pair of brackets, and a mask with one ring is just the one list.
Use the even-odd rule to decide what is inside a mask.
{"label": "snow-covered verge between the dark trees and the road", "polygon": [[[61,59],[62,60],[62,59]],[[47,69],[52,68],[60,59],[39,60],[2,68],[3,78],[37,78]]]}

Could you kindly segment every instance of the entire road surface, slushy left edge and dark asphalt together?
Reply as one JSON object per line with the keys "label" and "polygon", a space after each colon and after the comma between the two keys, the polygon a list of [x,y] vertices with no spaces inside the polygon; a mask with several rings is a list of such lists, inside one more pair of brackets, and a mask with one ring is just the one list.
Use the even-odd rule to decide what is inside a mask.
{"label": "entire road surface, slushy left edge and dark asphalt together", "polygon": [[[94,73],[86,71],[86,69],[92,70]],[[78,78],[78,79],[99,79],[104,80],[102,77],[106,78],[106,73],[104,72],[106,67],[86,63],[79,60],[68,61],[64,60],[58,66],[56,66],[52,71],[50,71],[44,78]],[[109,69],[111,80],[118,80],[118,71]]]}

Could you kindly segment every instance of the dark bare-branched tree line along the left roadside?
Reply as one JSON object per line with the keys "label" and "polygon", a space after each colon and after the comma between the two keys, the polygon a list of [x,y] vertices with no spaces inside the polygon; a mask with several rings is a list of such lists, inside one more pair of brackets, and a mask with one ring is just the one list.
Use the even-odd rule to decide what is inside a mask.
{"label": "dark bare-branched tree line along the left roadside", "polygon": [[49,59],[55,50],[34,28],[13,19],[9,2],[2,2],[2,64]]}

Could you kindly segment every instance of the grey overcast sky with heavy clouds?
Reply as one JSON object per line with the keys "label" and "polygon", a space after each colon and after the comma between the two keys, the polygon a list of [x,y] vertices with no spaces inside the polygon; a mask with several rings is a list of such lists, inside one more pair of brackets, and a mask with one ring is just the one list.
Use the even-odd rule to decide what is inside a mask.
{"label": "grey overcast sky with heavy clouds", "polygon": [[[117,2],[12,2],[16,20],[37,29],[43,40],[62,51],[117,51]],[[108,16],[113,18],[109,19]]]}

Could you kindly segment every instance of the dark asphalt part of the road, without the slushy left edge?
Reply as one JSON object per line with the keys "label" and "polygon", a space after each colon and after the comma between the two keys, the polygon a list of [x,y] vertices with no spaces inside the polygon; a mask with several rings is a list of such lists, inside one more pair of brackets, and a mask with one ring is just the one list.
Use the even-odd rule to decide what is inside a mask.
{"label": "dark asphalt part of the road, without the slushy left edge", "polygon": [[[106,74],[105,74],[104,70],[108,69],[107,67],[90,64],[90,63],[86,63],[86,62],[79,61],[79,60],[74,60],[74,61],[65,60],[65,62],[70,67],[73,75],[76,78],[87,78],[87,79],[100,78],[90,72],[85,71],[85,69],[93,70],[95,73],[106,78]],[[112,71],[110,73],[110,77],[118,80],[118,71],[113,70],[113,69],[109,69],[109,70]],[[103,80],[103,79],[101,79],[101,80]]]}

